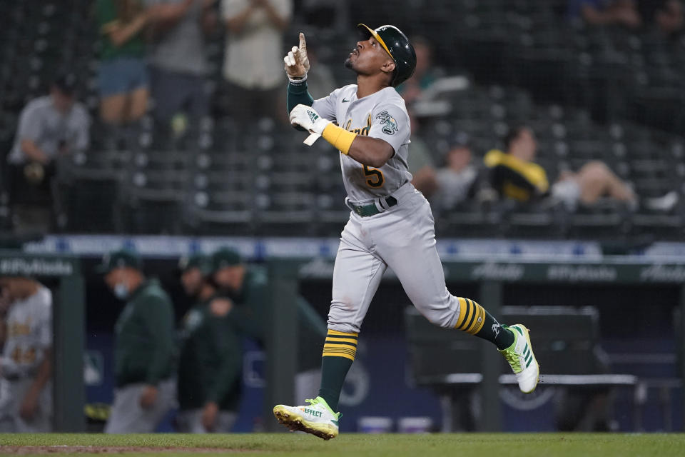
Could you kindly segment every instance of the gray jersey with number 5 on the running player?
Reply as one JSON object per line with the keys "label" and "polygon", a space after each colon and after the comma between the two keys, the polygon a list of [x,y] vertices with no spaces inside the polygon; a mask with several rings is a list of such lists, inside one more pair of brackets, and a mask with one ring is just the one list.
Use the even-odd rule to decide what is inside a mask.
{"label": "gray jersey with number 5 on the running player", "polygon": [[386,87],[357,99],[357,84],[350,84],[315,100],[312,108],[343,129],[387,141],[395,150],[392,158],[379,169],[340,154],[342,178],[350,200],[362,202],[388,196],[412,180],[407,169],[409,114],[395,88]]}

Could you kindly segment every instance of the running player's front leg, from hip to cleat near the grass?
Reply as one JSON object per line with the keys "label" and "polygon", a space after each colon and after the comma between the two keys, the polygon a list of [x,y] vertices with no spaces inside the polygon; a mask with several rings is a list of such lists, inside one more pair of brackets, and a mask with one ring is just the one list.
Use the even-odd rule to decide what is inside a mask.
{"label": "running player's front leg, from hip to cleat near the grass", "polygon": [[338,436],[338,399],[357,352],[359,328],[385,272],[386,265],[368,250],[358,216],[342,231],[333,269],[333,300],[328,314],[328,336],[321,359],[321,387],[308,405],[276,405],[273,413],[293,431],[328,440]]}

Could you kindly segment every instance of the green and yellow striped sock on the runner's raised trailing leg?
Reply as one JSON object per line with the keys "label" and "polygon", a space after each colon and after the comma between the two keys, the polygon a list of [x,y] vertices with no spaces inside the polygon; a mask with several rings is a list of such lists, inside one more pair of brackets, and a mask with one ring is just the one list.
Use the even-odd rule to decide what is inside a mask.
{"label": "green and yellow striped sock on the runner's raised trailing leg", "polygon": [[457,318],[457,330],[471,333],[478,338],[491,341],[500,351],[512,346],[514,333],[497,322],[485,308],[469,298],[457,298],[459,300],[459,318]]}

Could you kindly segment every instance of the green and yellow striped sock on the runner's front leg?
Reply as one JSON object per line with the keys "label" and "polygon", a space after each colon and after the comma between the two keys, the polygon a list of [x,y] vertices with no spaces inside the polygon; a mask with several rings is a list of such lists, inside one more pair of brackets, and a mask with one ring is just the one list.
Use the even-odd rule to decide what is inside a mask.
{"label": "green and yellow striped sock on the runner's front leg", "polygon": [[321,358],[321,387],[319,396],[333,411],[338,409],[338,400],[345,376],[355,361],[358,333],[329,330]]}

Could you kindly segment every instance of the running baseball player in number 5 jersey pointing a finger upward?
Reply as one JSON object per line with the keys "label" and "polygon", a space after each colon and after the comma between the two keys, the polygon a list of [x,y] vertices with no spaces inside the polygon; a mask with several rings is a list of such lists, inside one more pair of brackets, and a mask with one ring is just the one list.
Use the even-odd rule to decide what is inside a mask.
{"label": "running baseball player in number 5 jersey pointing a finger upward", "polygon": [[313,100],[308,93],[303,34],[300,46],[284,59],[290,80],[290,124],[310,133],[305,144],[323,136],[340,151],[345,204],[351,210],[335,258],[318,396],[308,400],[309,405],[273,408],[286,427],[324,439],[338,436],[340,413],[335,410],[342,383],[355,359],[360,326],[388,267],[432,323],[492,341],[512,366],[523,392],[532,392],[539,376],[527,328],[500,325],[475,301],[447,291],[430,205],[410,183],[410,121],[395,90],[412,76],[415,51],[395,26],[357,28],[362,39],[345,60],[357,75],[357,84],[323,99]]}

